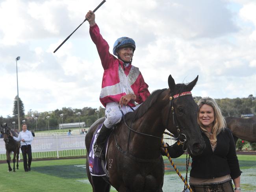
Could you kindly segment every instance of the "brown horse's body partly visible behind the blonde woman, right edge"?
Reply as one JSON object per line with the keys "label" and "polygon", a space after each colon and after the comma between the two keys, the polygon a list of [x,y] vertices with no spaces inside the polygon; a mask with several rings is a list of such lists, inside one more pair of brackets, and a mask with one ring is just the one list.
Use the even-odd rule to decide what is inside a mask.
{"label": "brown horse's body partly visible behind the blonde woman, right edge", "polygon": [[226,117],[225,119],[235,143],[238,138],[249,142],[256,142],[256,116],[249,118]]}

